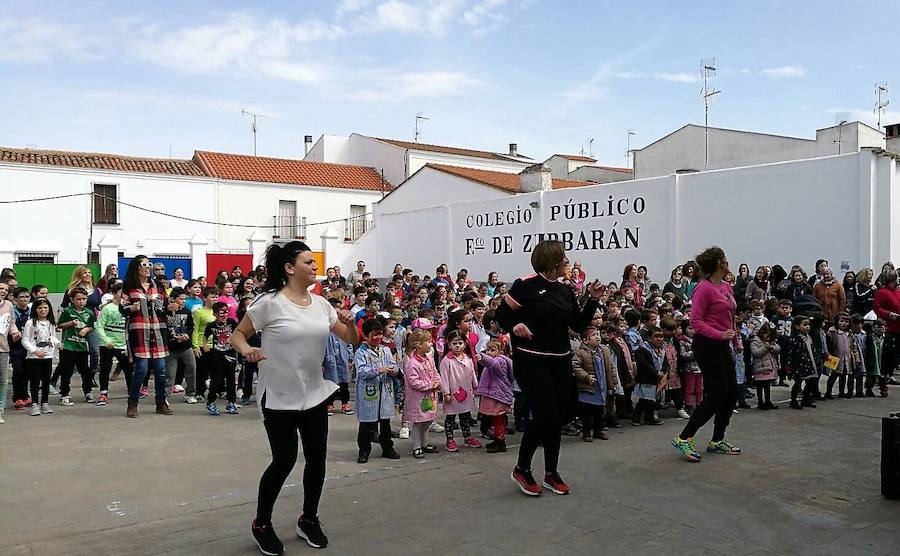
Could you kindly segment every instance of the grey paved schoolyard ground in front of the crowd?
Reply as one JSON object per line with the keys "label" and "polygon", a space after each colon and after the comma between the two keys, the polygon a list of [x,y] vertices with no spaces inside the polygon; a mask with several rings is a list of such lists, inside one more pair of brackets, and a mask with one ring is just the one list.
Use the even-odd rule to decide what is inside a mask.
{"label": "grey paved schoolyard ground in front of the crowd", "polygon": [[[157,417],[143,404],[131,420],[114,384],[105,408],[9,412],[0,425],[0,554],[256,553],[248,526],[269,454],[255,408],[214,418],[179,403]],[[573,494],[538,499],[509,480],[515,449],[417,461],[399,441],[403,459],[358,465],[355,418],[337,415],[321,518],[340,554],[893,555],[900,502],[879,494],[879,417],[898,409],[900,388],[816,410],[742,411],[729,436],[744,455],[701,464],[669,446],[683,423],[674,418],[608,442],[564,438]],[[275,509],[288,554],[312,550],[292,532],[299,483],[295,469]]]}

